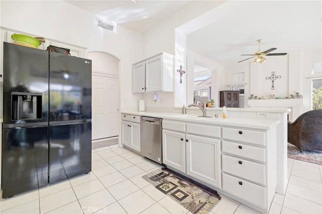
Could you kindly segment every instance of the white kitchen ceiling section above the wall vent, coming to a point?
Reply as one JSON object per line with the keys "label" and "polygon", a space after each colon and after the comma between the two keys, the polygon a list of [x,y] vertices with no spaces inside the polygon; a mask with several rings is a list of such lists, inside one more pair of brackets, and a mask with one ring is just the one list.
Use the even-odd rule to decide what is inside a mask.
{"label": "white kitchen ceiling section above the wall vent, coming to a point", "polygon": [[146,32],[191,3],[191,1],[176,0],[136,0],[136,3],[131,0],[65,2],[140,33]]}

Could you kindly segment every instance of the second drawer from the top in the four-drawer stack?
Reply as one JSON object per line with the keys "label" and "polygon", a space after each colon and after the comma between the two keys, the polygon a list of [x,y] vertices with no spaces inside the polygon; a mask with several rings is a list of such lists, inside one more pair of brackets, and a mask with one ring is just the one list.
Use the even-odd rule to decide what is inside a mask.
{"label": "second drawer from the top in the four-drawer stack", "polygon": [[244,144],[222,141],[222,152],[266,162],[265,149]]}

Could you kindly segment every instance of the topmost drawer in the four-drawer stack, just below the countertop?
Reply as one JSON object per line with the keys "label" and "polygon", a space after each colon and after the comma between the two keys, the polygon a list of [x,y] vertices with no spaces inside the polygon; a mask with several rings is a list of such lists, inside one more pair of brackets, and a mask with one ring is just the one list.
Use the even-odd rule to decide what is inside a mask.
{"label": "topmost drawer in the four-drawer stack, just below the countertop", "polygon": [[265,145],[265,133],[243,129],[222,128],[222,138]]}

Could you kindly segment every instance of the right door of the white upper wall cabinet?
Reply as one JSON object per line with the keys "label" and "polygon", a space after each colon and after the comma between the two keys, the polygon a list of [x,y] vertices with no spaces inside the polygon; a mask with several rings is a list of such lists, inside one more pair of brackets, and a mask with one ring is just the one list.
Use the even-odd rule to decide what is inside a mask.
{"label": "right door of the white upper wall cabinet", "polygon": [[163,89],[162,72],[162,55],[145,61],[145,91],[158,91]]}

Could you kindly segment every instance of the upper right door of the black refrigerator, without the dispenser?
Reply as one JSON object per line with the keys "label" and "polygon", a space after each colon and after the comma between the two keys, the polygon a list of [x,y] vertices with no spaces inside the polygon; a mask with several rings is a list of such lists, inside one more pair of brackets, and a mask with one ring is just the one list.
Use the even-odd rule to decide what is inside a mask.
{"label": "upper right door of the black refrigerator, without the dispenser", "polygon": [[49,124],[92,119],[92,61],[49,52]]}

